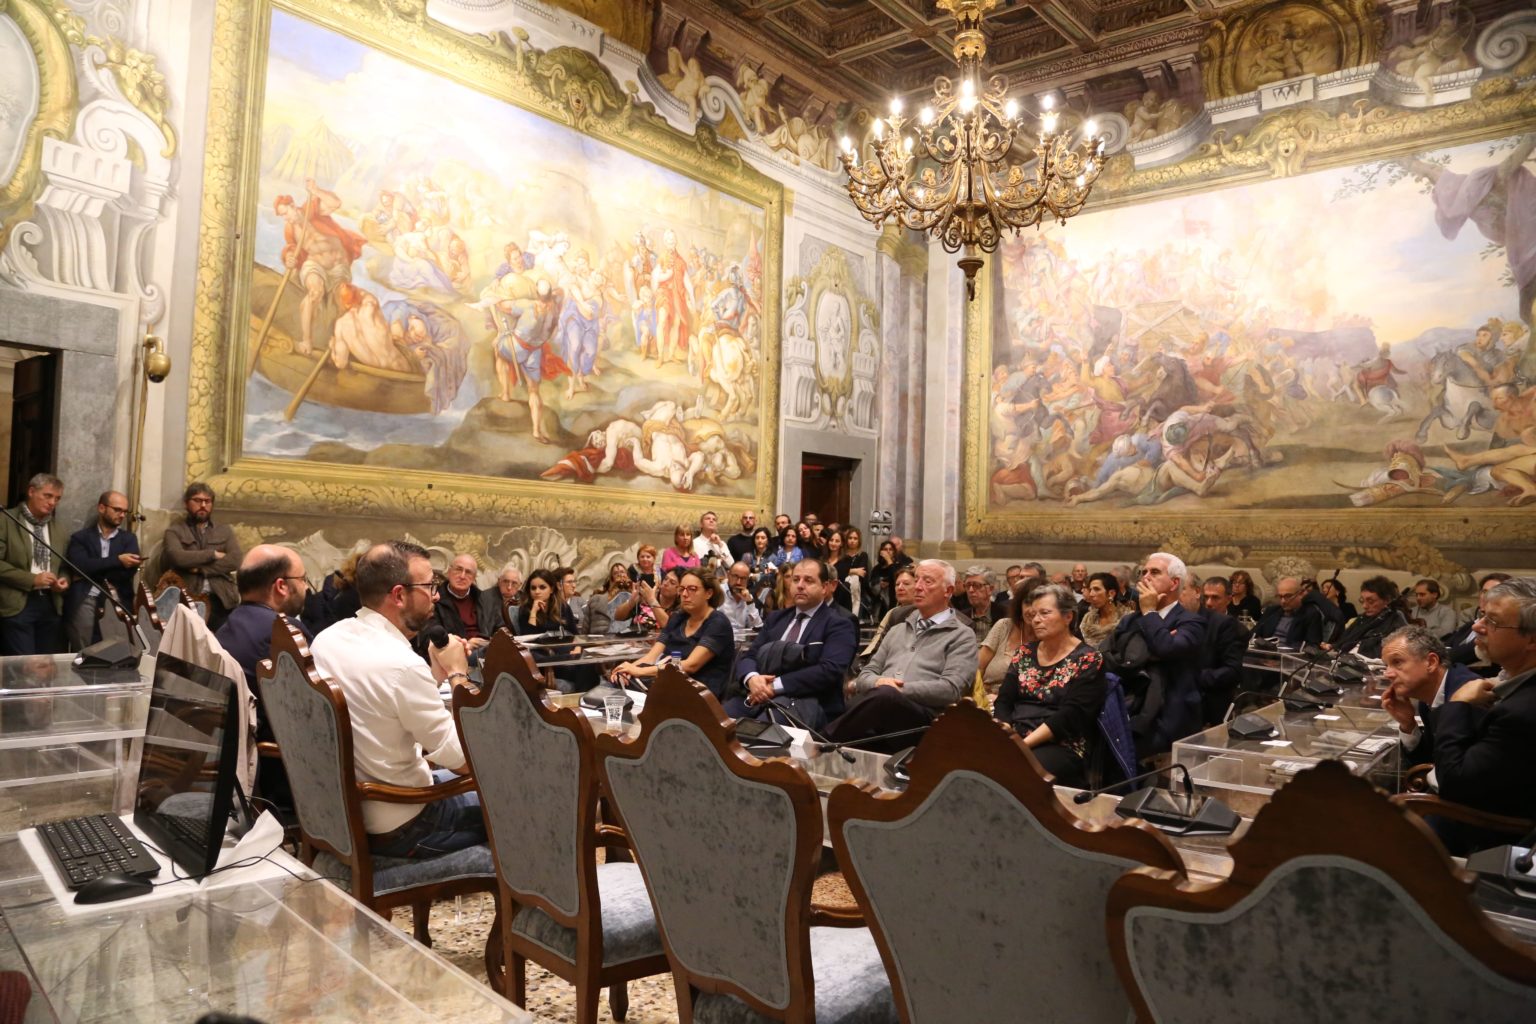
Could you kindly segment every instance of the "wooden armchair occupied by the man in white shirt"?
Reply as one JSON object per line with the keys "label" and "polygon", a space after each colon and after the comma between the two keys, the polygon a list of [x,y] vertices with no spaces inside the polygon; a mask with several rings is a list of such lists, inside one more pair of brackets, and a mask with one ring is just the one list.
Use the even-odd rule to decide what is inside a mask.
{"label": "wooden armchair occupied by the man in white shirt", "polygon": [[[459,777],[436,786],[358,781],[352,760],[352,720],[341,688],[315,671],[304,634],[281,617],[272,623],[272,656],[257,669],[261,708],[272,722],[293,788],[300,857],[321,875],[339,878],[353,898],[378,913],[410,907],[416,941],[432,944],[427,918],[435,900],[496,892],[488,846],[430,858],[375,857],[362,826],[362,801],[432,803],[475,789]],[[485,946],[487,973],[501,964],[498,930]]]}

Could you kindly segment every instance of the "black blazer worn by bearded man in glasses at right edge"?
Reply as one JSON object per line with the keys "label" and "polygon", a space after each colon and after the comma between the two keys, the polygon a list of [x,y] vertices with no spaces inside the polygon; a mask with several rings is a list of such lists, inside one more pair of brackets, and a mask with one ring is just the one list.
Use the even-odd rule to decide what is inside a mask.
{"label": "black blazer worn by bearded man in glasses at right edge", "polygon": [[1491,708],[1455,700],[1441,705],[1430,712],[1430,726],[1442,797],[1536,818],[1536,672],[1527,672],[1514,692]]}

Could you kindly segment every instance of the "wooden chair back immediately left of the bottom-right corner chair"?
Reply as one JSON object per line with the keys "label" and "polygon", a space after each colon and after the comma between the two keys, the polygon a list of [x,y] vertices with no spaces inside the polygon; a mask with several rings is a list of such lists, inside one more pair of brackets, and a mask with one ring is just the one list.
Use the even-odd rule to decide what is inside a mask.
{"label": "wooden chair back immediately left of the bottom-right corner chair", "polygon": [[1009,726],[954,705],[905,792],[843,783],[826,817],[903,1024],[1126,1019],[1106,898],[1134,867],[1183,878],[1178,854],[1146,823],[1068,811]]}

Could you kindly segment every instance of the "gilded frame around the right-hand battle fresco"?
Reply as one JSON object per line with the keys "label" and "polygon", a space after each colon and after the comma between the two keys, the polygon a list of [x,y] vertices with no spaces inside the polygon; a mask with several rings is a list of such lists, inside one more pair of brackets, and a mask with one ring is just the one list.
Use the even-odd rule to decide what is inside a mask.
{"label": "gilded frame around the right-hand battle fresco", "polygon": [[[1490,78],[1458,104],[1409,111],[1361,100],[1342,112],[1318,106],[1276,111],[1229,140],[1215,137],[1195,155],[1166,167],[1132,170],[1117,157],[1098,181],[1091,210],[1258,183],[1304,170],[1382,160],[1422,149],[1448,149],[1536,130],[1536,84]],[[1276,155],[1284,155],[1276,160]],[[1107,187],[1106,187],[1107,186]],[[1071,226],[1069,226],[1071,229]],[[977,299],[965,304],[965,388],[962,393],[960,536],[977,543],[1037,548],[1154,551],[1186,560],[1253,563],[1278,554],[1309,554],[1341,565],[1453,574],[1455,559],[1487,551],[1501,567],[1536,565],[1536,516],[1528,508],[1338,508],[1296,511],[1217,510],[1160,513],[1152,508],[1097,510],[1032,502],[1028,511],[988,505],[991,456],[988,382],[992,365],[997,261],[989,259]]]}

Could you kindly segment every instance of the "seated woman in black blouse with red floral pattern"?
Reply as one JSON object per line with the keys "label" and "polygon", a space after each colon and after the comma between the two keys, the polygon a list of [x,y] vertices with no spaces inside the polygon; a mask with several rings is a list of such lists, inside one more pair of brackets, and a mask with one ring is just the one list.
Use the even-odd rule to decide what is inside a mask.
{"label": "seated woman in black blouse with red floral pattern", "polygon": [[1035,639],[1018,648],[992,708],[1063,786],[1086,781],[1084,758],[1106,691],[1103,656],[1072,636],[1075,614],[1077,600],[1066,586],[1035,591],[1029,603]]}

